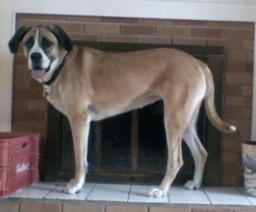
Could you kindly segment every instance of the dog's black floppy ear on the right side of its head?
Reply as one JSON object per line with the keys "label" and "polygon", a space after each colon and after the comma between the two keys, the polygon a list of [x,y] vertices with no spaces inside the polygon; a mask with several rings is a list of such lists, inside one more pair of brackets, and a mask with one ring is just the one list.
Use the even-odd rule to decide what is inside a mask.
{"label": "dog's black floppy ear on the right side of its head", "polygon": [[70,52],[73,49],[73,44],[68,35],[65,33],[61,27],[57,25],[49,26],[49,30],[58,38],[58,42],[61,47]]}

